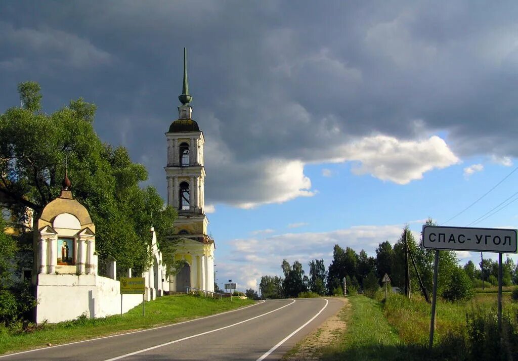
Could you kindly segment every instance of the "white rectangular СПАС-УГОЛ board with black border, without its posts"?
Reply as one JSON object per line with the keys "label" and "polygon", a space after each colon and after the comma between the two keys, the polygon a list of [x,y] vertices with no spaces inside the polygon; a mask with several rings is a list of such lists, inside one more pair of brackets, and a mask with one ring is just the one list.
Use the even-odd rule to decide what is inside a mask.
{"label": "white rectangular \u0421\u041f\u0410\u0421-\u0423\u0413\u041e\u041b board with black border, without its posts", "polygon": [[516,229],[423,226],[423,247],[516,253]]}

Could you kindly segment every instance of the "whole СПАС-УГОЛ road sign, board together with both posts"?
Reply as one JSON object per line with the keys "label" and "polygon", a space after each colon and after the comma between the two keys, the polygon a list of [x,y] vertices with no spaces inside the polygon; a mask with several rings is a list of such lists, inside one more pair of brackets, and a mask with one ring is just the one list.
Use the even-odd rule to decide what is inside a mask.
{"label": "whole \u0421\u041f\u0410\u0421-\u0423\u0413\u041e\u041b road sign, board together with both posts", "polygon": [[434,343],[439,250],[498,253],[498,326],[502,322],[502,253],[517,253],[516,229],[423,226],[423,247],[435,251],[434,298],[431,302],[430,342]]}

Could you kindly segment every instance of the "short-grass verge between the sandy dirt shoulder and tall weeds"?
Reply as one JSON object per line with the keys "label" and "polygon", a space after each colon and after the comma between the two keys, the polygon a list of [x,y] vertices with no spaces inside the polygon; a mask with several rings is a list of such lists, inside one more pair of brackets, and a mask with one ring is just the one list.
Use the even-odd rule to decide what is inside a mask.
{"label": "short-grass verge between the sandy dirt shoulder and tall weeds", "polygon": [[350,308],[343,308],[340,318],[347,329],[339,341],[319,350],[323,360],[411,359],[400,348],[395,329],[383,315],[382,304],[362,295],[348,297]]}

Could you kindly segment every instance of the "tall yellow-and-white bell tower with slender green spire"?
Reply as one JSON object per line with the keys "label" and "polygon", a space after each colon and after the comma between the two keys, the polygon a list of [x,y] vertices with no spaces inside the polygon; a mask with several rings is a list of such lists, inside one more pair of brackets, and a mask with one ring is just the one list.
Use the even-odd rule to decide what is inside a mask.
{"label": "tall yellow-and-white bell tower with slender green spire", "polygon": [[178,119],[171,123],[167,139],[167,204],[178,211],[175,234],[179,240],[175,258],[183,259],[171,290],[185,291],[186,286],[214,291],[214,240],[207,235],[209,221],[205,215],[205,138],[192,119],[192,96],[187,81],[187,51],[183,49],[183,85],[178,96]]}

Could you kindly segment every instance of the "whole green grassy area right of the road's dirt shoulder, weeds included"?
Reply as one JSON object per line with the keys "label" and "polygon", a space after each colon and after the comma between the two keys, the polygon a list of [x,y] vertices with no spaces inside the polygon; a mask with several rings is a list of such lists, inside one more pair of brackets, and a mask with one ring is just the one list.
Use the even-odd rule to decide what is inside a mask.
{"label": "whole green grassy area right of the road's dirt shoulder, weeds included", "polygon": [[324,360],[513,359],[518,355],[518,304],[502,297],[503,336],[497,330],[497,294],[466,302],[438,300],[434,347],[428,349],[431,305],[419,296],[391,294],[385,301],[348,297],[339,341],[316,351]]}

